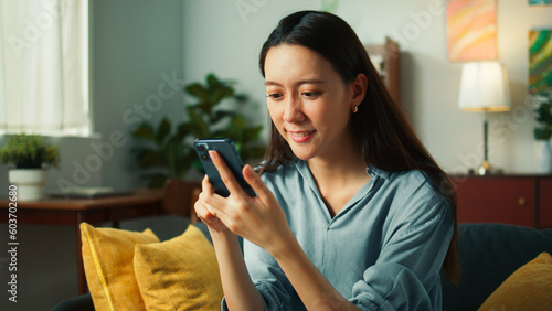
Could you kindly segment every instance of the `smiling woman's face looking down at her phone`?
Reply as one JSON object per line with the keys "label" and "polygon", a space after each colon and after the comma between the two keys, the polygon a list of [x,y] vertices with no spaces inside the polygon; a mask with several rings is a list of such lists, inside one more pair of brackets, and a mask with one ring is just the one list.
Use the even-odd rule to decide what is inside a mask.
{"label": "smiling woman's face looking down at her phone", "polygon": [[296,157],[331,160],[349,151],[349,118],[362,98],[320,54],[301,45],[270,47],[265,85],[270,118]]}

